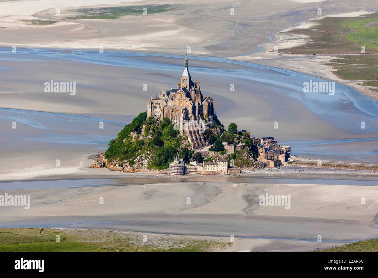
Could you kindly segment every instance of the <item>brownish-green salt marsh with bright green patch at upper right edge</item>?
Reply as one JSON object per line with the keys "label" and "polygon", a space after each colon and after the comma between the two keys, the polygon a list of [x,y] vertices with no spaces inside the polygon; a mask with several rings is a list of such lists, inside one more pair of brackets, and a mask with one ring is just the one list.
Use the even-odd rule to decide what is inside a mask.
{"label": "brownish-green salt marsh with bright green patch at upper right edge", "polygon": [[[363,81],[378,90],[378,14],[359,17],[326,17],[314,20],[311,29],[289,31],[308,38],[308,43],[287,48],[291,54],[333,54],[336,59],[325,63],[332,73],[344,80]],[[365,53],[361,53],[365,47]]]}

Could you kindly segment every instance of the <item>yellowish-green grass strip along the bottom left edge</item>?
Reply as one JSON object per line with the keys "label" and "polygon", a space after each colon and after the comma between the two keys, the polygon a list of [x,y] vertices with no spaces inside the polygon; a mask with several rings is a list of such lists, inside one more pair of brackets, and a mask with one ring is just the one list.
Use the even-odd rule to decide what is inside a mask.
{"label": "yellowish-green grass strip along the bottom left edge", "polygon": [[[196,240],[190,236],[123,233],[103,230],[47,228],[0,229],[0,252],[207,252],[230,242]],[[56,242],[59,235],[60,242]]]}

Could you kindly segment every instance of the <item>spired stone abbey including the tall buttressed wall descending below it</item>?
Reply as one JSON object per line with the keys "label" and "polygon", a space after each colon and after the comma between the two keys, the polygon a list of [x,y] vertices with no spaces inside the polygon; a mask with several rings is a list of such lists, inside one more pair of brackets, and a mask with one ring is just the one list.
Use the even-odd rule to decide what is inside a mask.
{"label": "spired stone abbey including the tall buttressed wall descending below it", "polygon": [[172,123],[180,125],[180,134],[187,135],[193,148],[206,146],[203,130],[200,130],[206,129],[206,123],[212,123],[214,115],[214,100],[211,96],[202,95],[199,79],[197,82],[192,81],[187,53],[184,71],[177,87],[162,89],[159,96],[151,97],[147,102],[147,117],[152,116],[157,121],[169,118]]}

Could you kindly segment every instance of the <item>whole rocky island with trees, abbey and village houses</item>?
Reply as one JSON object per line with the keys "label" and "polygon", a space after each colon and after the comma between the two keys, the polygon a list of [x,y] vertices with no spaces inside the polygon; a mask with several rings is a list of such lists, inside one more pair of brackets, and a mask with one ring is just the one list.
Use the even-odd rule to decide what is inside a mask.
{"label": "whole rocky island with trees, abbey and village houses", "polygon": [[235,123],[226,130],[218,120],[211,96],[203,96],[185,67],[176,88],[161,90],[147,102],[147,111],[125,126],[109,142],[92,168],[124,172],[229,174],[276,167],[287,160],[289,146],[273,137],[250,137]]}

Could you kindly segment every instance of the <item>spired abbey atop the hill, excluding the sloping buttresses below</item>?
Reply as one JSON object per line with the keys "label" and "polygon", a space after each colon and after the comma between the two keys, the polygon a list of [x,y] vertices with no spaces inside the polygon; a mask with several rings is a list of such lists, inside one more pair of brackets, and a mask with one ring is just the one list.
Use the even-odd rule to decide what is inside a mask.
{"label": "spired abbey atop the hill, excluding the sloping buttresses below", "polygon": [[200,80],[192,81],[188,69],[188,54],[186,53],[185,68],[177,88],[161,90],[147,103],[147,117],[153,116],[156,120],[169,118],[171,122],[204,121],[211,123],[214,116],[214,101],[211,96],[203,97],[200,89]]}

